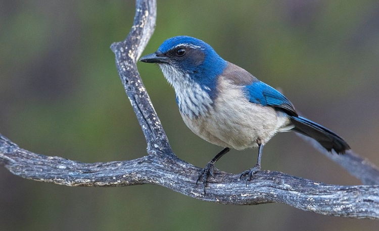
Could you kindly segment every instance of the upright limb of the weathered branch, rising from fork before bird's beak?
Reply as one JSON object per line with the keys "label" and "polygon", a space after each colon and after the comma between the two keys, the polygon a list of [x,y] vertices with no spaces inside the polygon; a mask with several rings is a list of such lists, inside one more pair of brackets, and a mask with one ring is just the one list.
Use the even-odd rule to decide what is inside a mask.
{"label": "upright limb of the weathered branch, rising from fork before bird's beak", "polygon": [[113,43],[111,49],[116,55],[116,66],[125,92],[146,137],[148,153],[158,150],[174,156],[136,65],[154,33],[156,18],[156,1],[137,0],[134,23],[128,36],[124,41]]}

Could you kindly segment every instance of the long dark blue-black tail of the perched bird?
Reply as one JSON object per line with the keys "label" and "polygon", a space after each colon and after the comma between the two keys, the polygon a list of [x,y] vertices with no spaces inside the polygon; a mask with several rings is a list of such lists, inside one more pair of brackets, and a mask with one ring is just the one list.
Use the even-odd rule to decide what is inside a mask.
{"label": "long dark blue-black tail of the perched bird", "polygon": [[350,149],[344,139],[321,125],[303,117],[291,117],[291,120],[295,125],[292,130],[315,139],[329,152],[334,149],[338,154],[344,154]]}

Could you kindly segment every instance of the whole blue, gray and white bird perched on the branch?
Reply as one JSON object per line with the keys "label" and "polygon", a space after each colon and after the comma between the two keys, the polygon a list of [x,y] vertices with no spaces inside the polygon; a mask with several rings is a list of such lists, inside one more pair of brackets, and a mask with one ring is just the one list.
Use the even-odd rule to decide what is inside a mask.
{"label": "whole blue, gray and white bird perched on the branch", "polygon": [[224,147],[200,171],[203,190],[214,164],[231,148],[258,147],[257,163],[240,175],[246,187],[261,170],[262,150],[278,132],[295,131],[315,139],[327,151],[344,154],[347,142],[329,129],[301,117],[292,102],[245,69],[222,59],[206,42],[189,36],[165,40],[141,62],[157,64],[173,86],[185,125],[209,143]]}

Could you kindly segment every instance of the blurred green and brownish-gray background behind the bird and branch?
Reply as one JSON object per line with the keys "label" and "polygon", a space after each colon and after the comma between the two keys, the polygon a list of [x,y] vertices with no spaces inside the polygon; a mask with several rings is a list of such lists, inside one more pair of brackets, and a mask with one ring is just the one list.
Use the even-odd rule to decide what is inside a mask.
{"label": "blurred green and brownish-gray background behind the bird and branch", "polygon": [[[83,162],[134,159],[145,138],[109,46],[123,40],[134,1],[0,1],[0,133],[19,146]],[[175,35],[198,37],[227,61],[280,88],[308,118],[379,165],[378,1],[158,1],[144,54]],[[174,152],[196,166],[221,150],[182,122],[159,68],[139,72]],[[216,166],[238,174],[257,150]],[[293,133],[266,146],[263,169],[329,184],[358,180]],[[0,167],[1,230],[378,230],[282,204],[202,202],[166,188],[70,188]]]}

